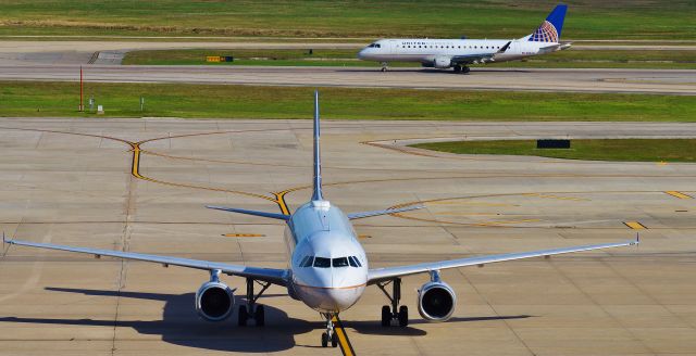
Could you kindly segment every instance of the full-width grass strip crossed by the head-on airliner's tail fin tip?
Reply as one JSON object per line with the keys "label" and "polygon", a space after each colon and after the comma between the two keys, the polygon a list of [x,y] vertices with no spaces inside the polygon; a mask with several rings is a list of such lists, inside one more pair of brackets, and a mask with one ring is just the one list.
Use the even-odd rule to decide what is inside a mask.
{"label": "full-width grass strip crossed by the head-on airliner's tail fin tip", "polygon": [[[312,88],[85,84],[105,116],[309,118]],[[0,81],[0,116],[77,113],[76,82]],[[344,119],[695,122],[696,97],[322,88],[322,116]],[[139,98],[146,102],[140,112]],[[532,104],[530,104],[532,103]]]}

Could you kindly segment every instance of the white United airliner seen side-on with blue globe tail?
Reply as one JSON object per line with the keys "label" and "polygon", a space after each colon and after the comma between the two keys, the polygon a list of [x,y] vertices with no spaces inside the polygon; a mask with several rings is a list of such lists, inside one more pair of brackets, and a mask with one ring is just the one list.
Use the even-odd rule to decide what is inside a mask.
{"label": "white United airliner seen side-on with blue globe tail", "polygon": [[424,67],[453,68],[469,73],[469,64],[507,62],[570,48],[561,43],[561,29],[568,5],[559,4],[531,35],[519,39],[382,39],[358,53],[364,61],[420,62]]}

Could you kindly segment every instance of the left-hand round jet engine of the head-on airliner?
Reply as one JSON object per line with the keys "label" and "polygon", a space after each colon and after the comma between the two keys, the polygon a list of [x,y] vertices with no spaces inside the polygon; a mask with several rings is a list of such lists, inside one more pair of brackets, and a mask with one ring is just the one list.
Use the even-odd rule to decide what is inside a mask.
{"label": "left-hand round jet engine of the head-on airliner", "polygon": [[233,291],[223,282],[206,282],[196,292],[196,312],[208,321],[227,319],[232,315],[234,306]]}

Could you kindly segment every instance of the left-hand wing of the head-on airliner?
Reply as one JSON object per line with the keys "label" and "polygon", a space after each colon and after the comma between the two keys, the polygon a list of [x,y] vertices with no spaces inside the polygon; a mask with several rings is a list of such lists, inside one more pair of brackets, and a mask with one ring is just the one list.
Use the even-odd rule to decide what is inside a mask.
{"label": "left-hand wing of the head-on airliner", "polygon": [[74,246],[65,246],[65,245],[58,245],[58,244],[51,244],[51,243],[38,243],[38,242],[20,241],[20,240],[3,239],[3,242],[8,244],[18,245],[18,246],[84,253],[84,254],[95,255],[96,257],[109,256],[109,257],[116,257],[116,258],[124,258],[124,259],[151,262],[156,264],[162,264],[164,266],[172,265],[172,266],[181,266],[181,267],[188,267],[188,268],[196,268],[196,269],[203,269],[203,270],[220,269],[225,275],[253,278],[256,280],[271,282],[279,285],[286,285],[287,278],[288,278],[288,271],[286,269],[247,267],[247,266],[228,265],[228,264],[210,262],[210,260],[148,255],[148,254],[141,254],[141,253],[113,251],[113,250],[74,247]]}

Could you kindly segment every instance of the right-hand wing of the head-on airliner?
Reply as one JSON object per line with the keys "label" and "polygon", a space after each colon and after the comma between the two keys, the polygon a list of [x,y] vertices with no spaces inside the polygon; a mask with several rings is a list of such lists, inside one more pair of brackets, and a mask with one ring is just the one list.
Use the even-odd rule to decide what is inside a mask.
{"label": "right-hand wing of the head-on airliner", "polygon": [[381,281],[403,277],[403,276],[409,276],[409,275],[430,272],[432,270],[468,267],[468,266],[482,266],[486,264],[493,264],[496,262],[560,255],[566,253],[583,252],[583,251],[592,251],[592,250],[631,246],[631,245],[637,245],[638,243],[639,243],[639,240],[636,239],[635,241],[625,241],[625,242],[618,242],[618,243],[583,245],[583,246],[555,249],[555,250],[540,250],[540,251],[522,252],[522,253],[509,253],[509,254],[501,254],[501,255],[476,256],[476,257],[440,260],[440,262],[425,263],[425,264],[418,264],[418,265],[410,265],[410,266],[375,268],[375,269],[370,269],[370,271],[368,272],[368,284],[374,284]]}

